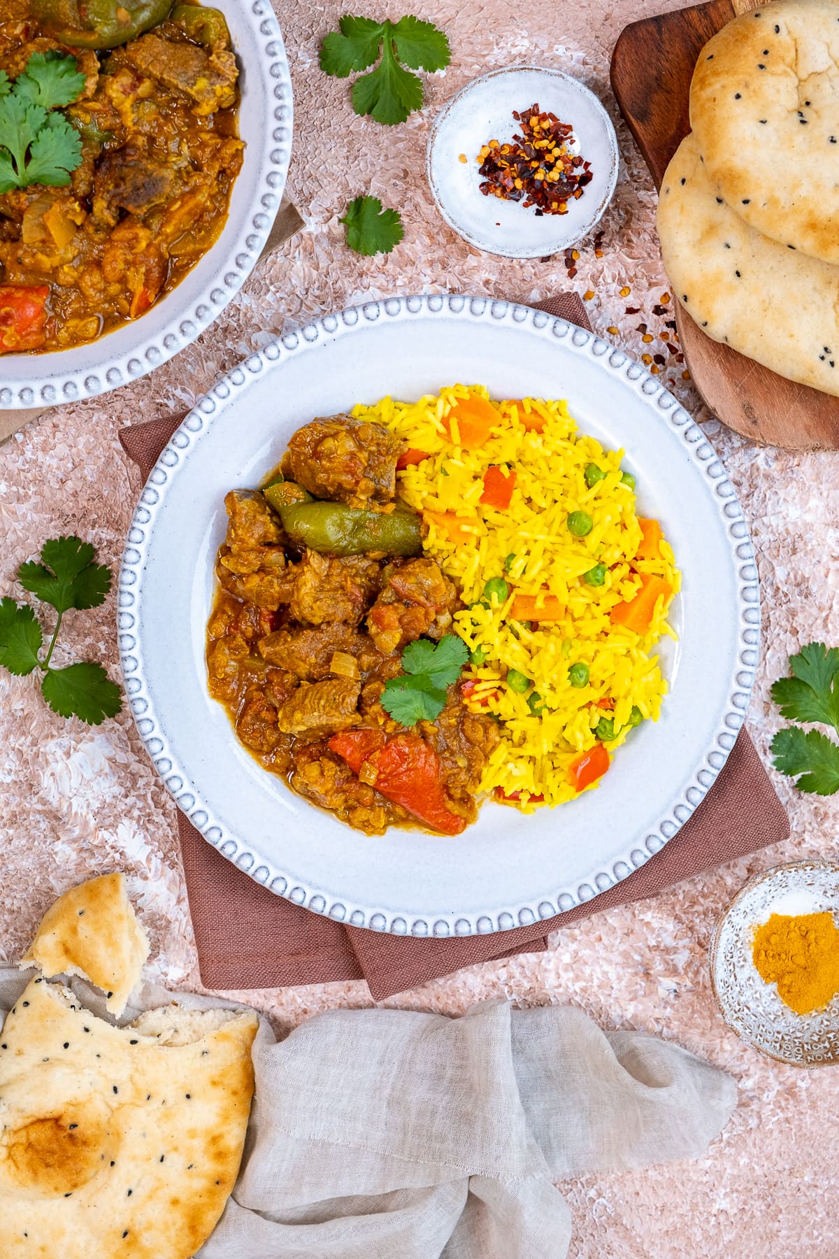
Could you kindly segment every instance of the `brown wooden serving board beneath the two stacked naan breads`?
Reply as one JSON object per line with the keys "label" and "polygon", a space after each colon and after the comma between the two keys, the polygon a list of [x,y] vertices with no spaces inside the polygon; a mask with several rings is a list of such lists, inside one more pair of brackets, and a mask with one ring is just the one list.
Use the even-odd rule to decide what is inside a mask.
{"label": "brown wooden serving board beneath the two stacked naan breads", "polygon": [[[709,0],[634,21],[618,38],[611,87],[657,188],[691,130],[691,78],[702,47],[732,18],[757,8],[757,0]],[[674,305],[682,351],[714,415],[755,442],[794,451],[839,447],[839,398],[786,380],[712,341]]]}

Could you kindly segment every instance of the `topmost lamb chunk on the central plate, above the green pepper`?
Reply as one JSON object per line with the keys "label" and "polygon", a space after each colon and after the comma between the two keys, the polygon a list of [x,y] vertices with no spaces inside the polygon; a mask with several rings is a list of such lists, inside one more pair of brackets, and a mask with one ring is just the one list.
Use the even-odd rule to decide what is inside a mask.
{"label": "topmost lamb chunk on the central plate, above the green pepper", "polygon": [[283,462],[316,499],[365,507],[392,502],[401,447],[381,424],[332,415],[298,428]]}

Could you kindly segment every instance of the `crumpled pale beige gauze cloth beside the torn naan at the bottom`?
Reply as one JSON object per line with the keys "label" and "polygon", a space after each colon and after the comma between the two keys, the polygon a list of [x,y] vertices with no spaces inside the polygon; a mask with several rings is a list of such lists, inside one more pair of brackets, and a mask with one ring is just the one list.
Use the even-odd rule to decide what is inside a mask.
{"label": "crumpled pale beige gauze cloth beside the torn naan at the bottom", "polygon": [[[0,1011],[24,986],[0,968]],[[233,1005],[143,985],[119,1022],[170,1001]],[[200,1259],[562,1259],[553,1181],[696,1158],[737,1099],[678,1045],[571,1006],[332,1010],[282,1041],[262,1021],[253,1054],[242,1173]]]}

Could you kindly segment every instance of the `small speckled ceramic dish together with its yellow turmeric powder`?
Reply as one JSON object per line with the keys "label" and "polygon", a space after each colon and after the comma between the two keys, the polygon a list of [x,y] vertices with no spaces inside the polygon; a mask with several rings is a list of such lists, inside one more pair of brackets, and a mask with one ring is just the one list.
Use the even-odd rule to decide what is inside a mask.
{"label": "small speckled ceramic dish together with its yellow turmeric powder", "polygon": [[791,1066],[839,1063],[839,865],[755,875],[717,923],[711,986],[728,1026]]}

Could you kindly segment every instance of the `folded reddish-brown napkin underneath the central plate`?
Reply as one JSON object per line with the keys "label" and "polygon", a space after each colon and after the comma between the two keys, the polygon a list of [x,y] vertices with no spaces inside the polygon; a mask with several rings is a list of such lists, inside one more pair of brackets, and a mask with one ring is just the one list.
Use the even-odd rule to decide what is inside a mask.
{"label": "folded reddish-brown napkin underneath the central plate", "polygon": [[[576,293],[540,308],[590,329]],[[143,480],[180,424],[167,415],[123,428]],[[416,939],[343,927],[275,896],[223,857],[182,813],[177,831],[201,980],[209,988],[277,988],[365,978],[376,1001],[475,962],[547,948],[548,932],[601,909],[657,896],[703,870],[787,838],[786,813],[746,730],[708,794],[678,833],[621,883],[565,914],[492,935]]]}

